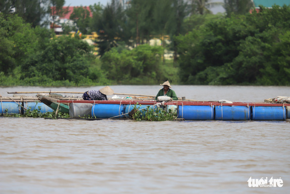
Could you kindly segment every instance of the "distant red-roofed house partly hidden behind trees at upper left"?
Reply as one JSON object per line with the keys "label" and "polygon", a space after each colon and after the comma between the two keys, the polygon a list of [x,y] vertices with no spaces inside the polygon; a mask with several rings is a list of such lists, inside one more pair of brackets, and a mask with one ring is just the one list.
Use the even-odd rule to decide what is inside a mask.
{"label": "distant red-roofed house partly hidden behind trees at upper left", "polygon": [[[74,22],[70,19],[70,15],[73,13],[73,10],[74,8],[77,8],[79,6],[64,6],[62,7],[63,9],[67,9],[68,12],[63,15],[63,16],[56,16],[56,19],[58,20],[57,24],[54,24],[53,25],[53,21],[52,19],[50,18],[50,29],[54,28],[54,32],[55,34],[59,34],[62,32],[62,28],[61,28],[61,24],[62,23],[67,23],[67,24],[70,24],[70,25],[74,25]],[[54,7],[50,7],[51,8],[51,14],[50,16],[52,15],[52,10],[54,9]],[[83,8],[89,10],[90,12],[90,17],[93,17],[93,13],[90,9],[89,6],[83,6]]]}

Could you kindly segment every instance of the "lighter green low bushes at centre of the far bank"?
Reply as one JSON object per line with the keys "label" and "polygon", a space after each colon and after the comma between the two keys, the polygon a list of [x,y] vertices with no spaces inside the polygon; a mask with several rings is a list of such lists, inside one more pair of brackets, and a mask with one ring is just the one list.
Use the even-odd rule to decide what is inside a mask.
{"label": "lighter green low bushes at centre of the far bank", "polygon": [[125,84],[134,78],[156,79],[160,72],[162,47],[140,45],[129,51],[112,49],[101,58],[104,72],[108,79]]}

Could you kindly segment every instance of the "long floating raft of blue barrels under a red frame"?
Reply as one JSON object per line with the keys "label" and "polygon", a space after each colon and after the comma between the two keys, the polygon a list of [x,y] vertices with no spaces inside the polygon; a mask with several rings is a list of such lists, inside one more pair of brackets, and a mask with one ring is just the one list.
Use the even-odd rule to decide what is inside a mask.
{"label": "long floating raft of blue barrels under a red frame", "polygon": [[[25,109],[40,110],[41,113],[53,112],[51,108],[38,101],[1,101],[1,114],[23,114]],[[223,120],[223,121],[285,121],[290,118],[290,104],[272,103],[218,103],[204,101],[134,101],[134,100],[57,100],[69,104],[70,118],[93,117],[96,119],[128,119],[134,109],[154,109],[161,106],[177,112],[181,120]],[[136,105],[136,106],[135,106]]]}

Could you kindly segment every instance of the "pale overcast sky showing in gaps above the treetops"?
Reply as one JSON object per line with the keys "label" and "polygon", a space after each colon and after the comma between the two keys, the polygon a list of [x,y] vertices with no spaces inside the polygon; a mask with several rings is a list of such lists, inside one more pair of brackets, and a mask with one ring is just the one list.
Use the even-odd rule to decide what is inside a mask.
{"label": "pale overcast sky showing in gaps above the treetops", "polygon": [[[223,2],[224,0],[212,0],[212,2]],[[93,4],[97,4],[100,2],[102,5],[106,5],[108,2],[111,2],[111,0],[65,0],[65,6],[89,6]],[[211,11],[215,14],[217,12],[224,12],[224,8],[222,6],[214,7],[211,9]]]}

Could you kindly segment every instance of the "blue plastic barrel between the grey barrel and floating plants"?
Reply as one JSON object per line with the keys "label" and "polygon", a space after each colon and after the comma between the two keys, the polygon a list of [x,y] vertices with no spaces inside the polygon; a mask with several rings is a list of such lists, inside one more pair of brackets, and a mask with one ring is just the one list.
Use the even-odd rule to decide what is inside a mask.
{"label": "blue plastic barrel between the grey barrel and floating plants", "polygon": [[124,105],[122,104],[94,104],[92,108],[93,118],[108,119],[114,117],[122,119],[125,117],[123,114]]}

